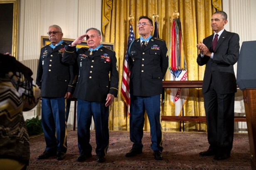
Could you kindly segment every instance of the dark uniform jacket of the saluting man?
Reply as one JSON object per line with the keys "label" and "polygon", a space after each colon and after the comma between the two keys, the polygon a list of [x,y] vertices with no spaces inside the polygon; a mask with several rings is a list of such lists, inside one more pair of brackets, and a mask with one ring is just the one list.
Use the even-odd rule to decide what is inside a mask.
{"label": "dark uniform jacket of the saluting man", "polygon": [[[78,64],[79,78],[74,97],[88,102],[106,102],[108,93],[118,94],[118,67],[116,53],[101,47],[90,55],[88,48],[66,46],[62,61]],[[110,77],[109,77],[110,73]]]}

